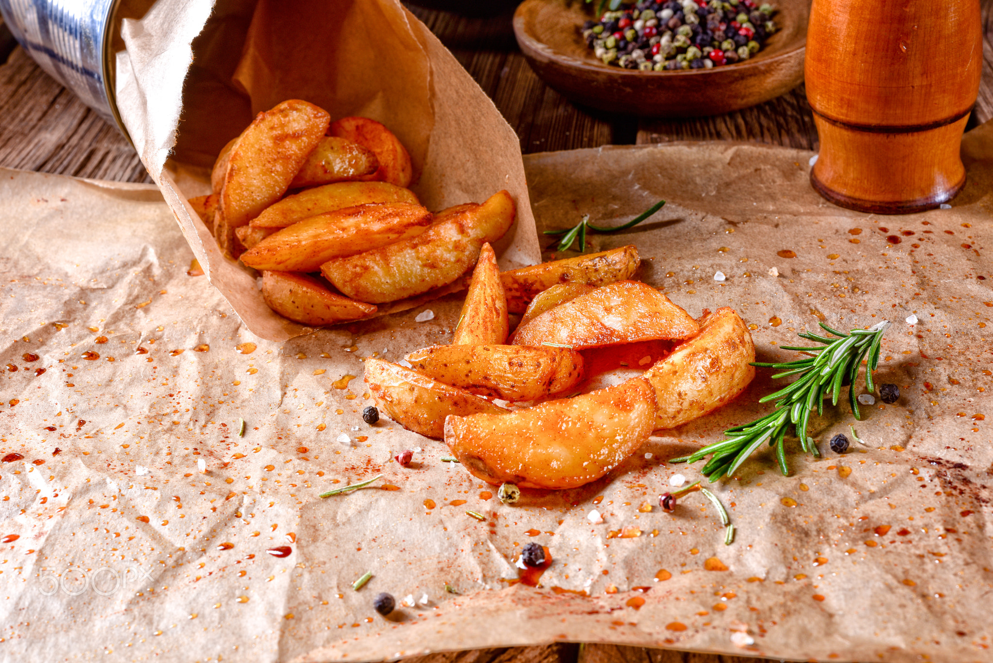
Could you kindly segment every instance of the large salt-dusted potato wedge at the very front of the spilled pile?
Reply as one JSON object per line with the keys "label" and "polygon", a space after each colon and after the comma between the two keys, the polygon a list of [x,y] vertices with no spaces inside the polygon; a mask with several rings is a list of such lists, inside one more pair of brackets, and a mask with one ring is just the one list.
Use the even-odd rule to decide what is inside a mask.
{"label": "large salt-dusted potato wedge at the very front of the spilled pile", "polygon": [[595,481],[651,434],[655,395],[642,378],[503,414],[453,414],[445,443],[492,484],[559,490]]}

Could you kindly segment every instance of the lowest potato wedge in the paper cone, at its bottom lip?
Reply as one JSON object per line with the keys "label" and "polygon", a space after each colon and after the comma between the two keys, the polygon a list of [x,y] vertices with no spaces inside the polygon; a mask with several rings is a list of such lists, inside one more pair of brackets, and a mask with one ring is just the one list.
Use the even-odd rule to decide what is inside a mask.
{"label": "lowest potato wedge in the paper cone, at its bottom lip", "polygon": [[284,318],[312,327],[357,320],[376,311],[372,304],[335,294],[316,278],[289,271],[263,271],[262,298]]}

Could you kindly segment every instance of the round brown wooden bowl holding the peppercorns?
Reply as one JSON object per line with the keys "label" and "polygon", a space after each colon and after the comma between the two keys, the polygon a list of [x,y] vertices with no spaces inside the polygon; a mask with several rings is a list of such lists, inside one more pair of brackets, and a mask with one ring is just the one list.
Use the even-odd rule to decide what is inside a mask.
{"label": "round brown wooden bowl holding the peppercorns", "polygon": [[638,72],[604,65],[583,40],[592,18],[582,0],[524,0],[513,15],[517,44],[541,80],[581,105],[649,117],[718,115],[762,103],[803,81],[810,0],[779,0],[780,31],[743,63]]}

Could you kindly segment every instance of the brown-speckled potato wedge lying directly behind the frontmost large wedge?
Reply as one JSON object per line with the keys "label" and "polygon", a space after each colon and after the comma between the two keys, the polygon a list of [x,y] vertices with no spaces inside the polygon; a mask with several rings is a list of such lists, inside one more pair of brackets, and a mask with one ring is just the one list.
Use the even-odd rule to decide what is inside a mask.
{"label": "brown-speckled potato wedge lying directly behind the frontmost large wedge", "polygon": [[568,348],[519,345],[436,345],[407,355],[433,380],[503,401],[536,401],[572,389],[583,358]]}

